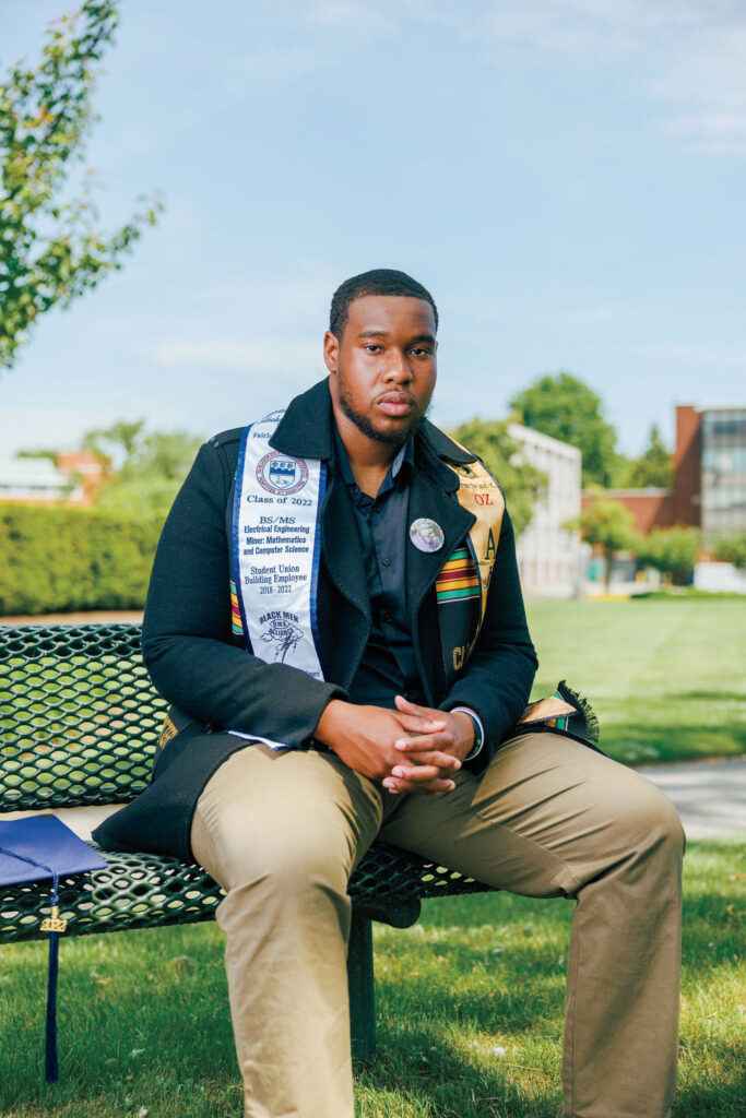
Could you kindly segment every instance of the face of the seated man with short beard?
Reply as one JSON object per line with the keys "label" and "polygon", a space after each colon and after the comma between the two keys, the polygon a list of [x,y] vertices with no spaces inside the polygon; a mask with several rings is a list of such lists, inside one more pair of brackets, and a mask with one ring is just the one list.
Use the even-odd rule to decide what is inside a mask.
{"label": "face of the seated man with short beard", "polygon": [[402,445],[435,388],[435,316],[426,300],[365,295],[353,300],[341,339],[324,335],[332,400],[358,430]]}

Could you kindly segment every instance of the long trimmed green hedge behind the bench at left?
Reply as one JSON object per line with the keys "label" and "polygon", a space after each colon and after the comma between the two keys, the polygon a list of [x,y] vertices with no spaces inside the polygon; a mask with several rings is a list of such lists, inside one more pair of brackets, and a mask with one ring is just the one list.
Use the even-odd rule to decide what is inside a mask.
{"label": "long trimmed green hedge behind the bench at left", "polygon": [[0,616],[141,609],[162,524],[0,502]]}

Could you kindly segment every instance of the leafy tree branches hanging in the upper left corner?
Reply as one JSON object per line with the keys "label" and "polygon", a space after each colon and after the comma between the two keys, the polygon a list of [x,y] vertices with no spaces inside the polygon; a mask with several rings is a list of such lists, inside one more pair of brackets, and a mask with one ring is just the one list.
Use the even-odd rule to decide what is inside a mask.
{"label": "leafy tree branches hanging in the upper left corner", "polygon": [[131,220],[103,235],[95,172],[73,197],[66,186],[96,120],[94,67],[117,21],[116,0],[85,0],[51,25],[36,67],[21,60],[0,83],[0,367],[15,363],[40,314],[121,268],[162,209],[141,198]]}

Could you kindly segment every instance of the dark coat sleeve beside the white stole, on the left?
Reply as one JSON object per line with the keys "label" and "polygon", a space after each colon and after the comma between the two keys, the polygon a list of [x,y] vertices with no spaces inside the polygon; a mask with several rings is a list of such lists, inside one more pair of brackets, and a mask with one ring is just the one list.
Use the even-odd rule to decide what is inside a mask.
{"label": "dark coat sleeve beside the white stole, on the left", "polygon": [[163,527],[148,590],[143,659],[155,688],[199,722],[300,745],[346,692],[230,642],[226,505],[235,468],[206,443]]}

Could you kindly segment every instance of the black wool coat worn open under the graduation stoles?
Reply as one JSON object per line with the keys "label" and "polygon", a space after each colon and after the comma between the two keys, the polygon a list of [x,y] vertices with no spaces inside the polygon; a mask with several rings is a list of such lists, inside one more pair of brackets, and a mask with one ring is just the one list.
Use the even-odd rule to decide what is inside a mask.
{"label": "black wool coat worn open under the graduation stoles", "polygon": [[[321,510],[318,627],[325,680],[267,663],[232,635],[230,523],[243,428],[206,443],[163,527],[148,591],[143,659],[159,692],[177,709],[180,732],[159,750],[151,786],[94,833],[102,846],[191,856],[197,799],[217,767],[246,741],[240,730],[301,746],[331,699],[346,699],[368,641],[371,610],[355,514],[341,479],[329,471]],[[290,404],[271,438],[283,454],[333,462],[333,415],[327,380]],[[521,716],[537,667],[518,579],[508,512],[503,514],[484,620],[465,664],[443,654],[435,579],[474,523],[456,500],[454,465],[474,462],[431,423],[415,436],[409,522],[443,529],[436,552],[407,548],[407,601],[414,650],[431,707],[471,707],[484,745],[470,767],[487,766]],[[459,603],[448,609],[466,610]],[[453,615],[451,615],[453,616]],[[469,617],[473,622],[474,610]],[[466,613],[464,613],[464,619]],[[473,634],[465,633],[465,642]],[[456,660],[457,662],[457,660]],[[251,747],[249,747],[251,748]]]}

